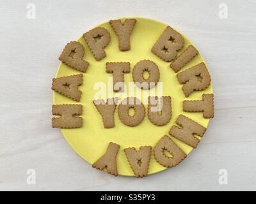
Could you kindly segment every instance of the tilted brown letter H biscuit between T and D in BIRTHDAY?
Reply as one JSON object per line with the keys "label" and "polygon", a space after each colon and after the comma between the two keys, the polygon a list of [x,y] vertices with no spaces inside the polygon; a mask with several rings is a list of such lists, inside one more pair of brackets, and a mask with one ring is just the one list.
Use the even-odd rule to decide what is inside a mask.
{"label": "tilted brown letter H biscuit between T and D in BIRTHDAY", "polygon": [[204,136],[206,128],[184,115],[179,115],[178,119],[176,120],[176,124],[178,124],[181,128],[178,126],[172,126],[169,134],[190,145],[191,147],[196,148],[200,140],[198,140],[195,135],[200,137]]}

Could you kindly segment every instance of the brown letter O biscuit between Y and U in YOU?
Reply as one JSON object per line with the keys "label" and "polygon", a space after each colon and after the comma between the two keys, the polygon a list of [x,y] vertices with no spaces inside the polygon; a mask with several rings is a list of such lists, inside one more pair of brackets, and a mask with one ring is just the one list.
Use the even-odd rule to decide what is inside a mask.
{"label": "brown letter O biscuit between Y and U in YOU", "polygon": [[[134,115],[129,115],[129,109],[134,109]],[[118,116],[122,123],[127,126],[138,126],[145,116],[144,105],[138,98],[125,98],[118,106]]]}

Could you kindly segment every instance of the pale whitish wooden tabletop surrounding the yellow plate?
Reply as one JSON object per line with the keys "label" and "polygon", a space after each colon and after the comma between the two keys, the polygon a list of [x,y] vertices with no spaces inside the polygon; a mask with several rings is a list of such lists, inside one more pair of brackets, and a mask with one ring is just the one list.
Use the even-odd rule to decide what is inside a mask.
{"label": "pale whitish wooden tabletop surrounding the yellow plate", "polygon": [[[26,17],[28,3],[35,19]],[[111,18],[136,16],[172,25],[195,43],[215,103],[200,146],[176,168],[143,179],[93,169],[51,128],[51,80],[63,46]],[[1,0],[0,19],[0,190],[256,190],[255,1]],[[36,185],[26,182],[31,168]],[[227,185],[218,182],[220,169]]]}

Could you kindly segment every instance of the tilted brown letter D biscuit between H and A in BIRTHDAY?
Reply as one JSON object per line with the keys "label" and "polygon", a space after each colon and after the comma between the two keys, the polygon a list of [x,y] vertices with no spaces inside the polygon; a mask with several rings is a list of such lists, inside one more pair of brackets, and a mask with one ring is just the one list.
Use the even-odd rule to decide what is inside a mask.
{"label": "tilted brown letter D biscuit between H and A in BIRTHDAY", "polygon": [[[171,156],[167,156],[165,151],[171,154]],[[186,156],[187,155],[167,135],[164,135],[154,148],[156,161],[165,167],[178,165]]]}

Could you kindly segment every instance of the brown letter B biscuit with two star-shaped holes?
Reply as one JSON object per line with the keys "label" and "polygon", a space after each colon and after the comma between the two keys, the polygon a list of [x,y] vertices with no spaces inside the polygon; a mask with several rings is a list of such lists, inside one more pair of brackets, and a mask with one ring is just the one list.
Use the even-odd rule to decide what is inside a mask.
{"label": "brown letter B biscuit with two star-shaped holes", "polygon": [[170,62],[177,56],[177,51],[184,46],[184,39],[172,27],[167,26],[163,34],[152,47],[152,52],[166,62]]}

